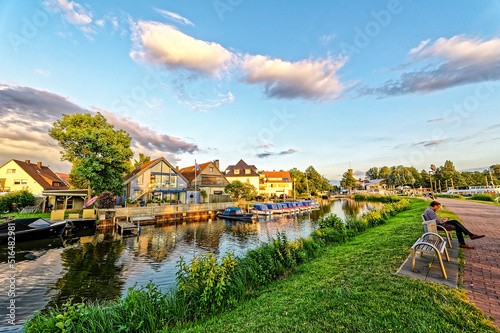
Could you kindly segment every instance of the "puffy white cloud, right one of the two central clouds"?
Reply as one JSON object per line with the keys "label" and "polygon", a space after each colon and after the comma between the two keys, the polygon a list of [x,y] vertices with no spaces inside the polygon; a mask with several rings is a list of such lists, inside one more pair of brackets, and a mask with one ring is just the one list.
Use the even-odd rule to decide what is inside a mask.
{"label": "puffy white cloud, right one of the two central clouds", "polygon": [[346,59],[332,58],[289,62],[246,55],[242,62],[243,81],[263,84],[265,94],[275,98],[333,100],[345,89],[337,71]]}

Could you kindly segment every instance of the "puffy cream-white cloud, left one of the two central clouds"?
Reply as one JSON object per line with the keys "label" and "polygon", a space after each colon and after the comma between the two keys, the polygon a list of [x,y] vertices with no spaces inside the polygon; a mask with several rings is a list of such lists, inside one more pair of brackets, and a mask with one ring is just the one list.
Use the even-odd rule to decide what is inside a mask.
{"label": "puffy cream-white cloud, left one of the two central clouds", "polygon": [[132,59],[161,64],[168,69],[220,76],[233,58],[230,51],[217,43],[195,39],[158,22],[139,21],[133,27],[132,41]]}

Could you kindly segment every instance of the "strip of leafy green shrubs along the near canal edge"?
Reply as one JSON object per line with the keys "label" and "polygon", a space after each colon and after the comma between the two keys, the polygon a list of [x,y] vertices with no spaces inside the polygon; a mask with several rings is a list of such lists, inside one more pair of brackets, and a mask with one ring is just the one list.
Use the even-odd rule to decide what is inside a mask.
{"label": "strip of leafy green shrubs along the near canal edge", "polygon": [[[399,199],[399,198],[398,198]],[[318,257],[330,244],[343,243],[369,227],[385,223],[391,214],[407,210],[408,200],[384,205],[384,211],[365,213],[345,222],[336,215],[322,218],[311,237],[276,238],[243,257],[226,254],[217,260],[212,253],[178,262],[177,286],[163,293],[150,283],[130,288],[124,299],[108,304],[71,303],[38,313],[26,332],[154,332],[207,318],[253,297],[255,291],[286,277],[301,264]]]}

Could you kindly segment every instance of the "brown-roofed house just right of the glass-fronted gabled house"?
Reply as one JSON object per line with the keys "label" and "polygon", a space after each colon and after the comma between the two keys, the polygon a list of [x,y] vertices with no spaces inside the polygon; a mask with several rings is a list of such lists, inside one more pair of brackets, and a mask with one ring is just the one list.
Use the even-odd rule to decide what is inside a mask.
{"label": "brown-roofed house just right of the glass-fronted gabled house", "polygon": [[[196,165],[192,165],[179,171],[188,180],[189,191],[204,190],[207,193],[206,202],[228,200],[228,197],[224,195],[224,188],[229,184],[229,181],[219,170],[219,160],[201,163],[198,168]],[[200,201],[203,202],[203,198],[200,198]]]}

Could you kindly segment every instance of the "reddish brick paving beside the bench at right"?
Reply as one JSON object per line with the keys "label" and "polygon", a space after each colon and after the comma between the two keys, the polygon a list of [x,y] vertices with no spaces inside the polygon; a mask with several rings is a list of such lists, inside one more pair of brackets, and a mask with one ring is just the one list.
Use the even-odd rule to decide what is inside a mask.
{"label": "reddish brick paving beside the bench at right", "polygon": [[500,206],[465,200],[437,198],[447,210],[460,217],[470,232],[486,235],[471,240],[474,250],[464,249],[464,289],[471,303],[500,328]]}

